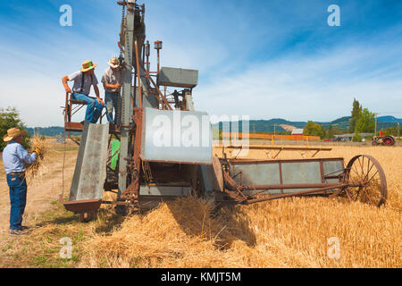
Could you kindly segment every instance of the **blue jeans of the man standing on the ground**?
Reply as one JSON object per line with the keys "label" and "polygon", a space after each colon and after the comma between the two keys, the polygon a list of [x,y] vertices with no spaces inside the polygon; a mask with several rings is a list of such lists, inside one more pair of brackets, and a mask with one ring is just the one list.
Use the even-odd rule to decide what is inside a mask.
{"label": "blue jeans of the man standing on the ground", "polygon": [[18,175],[7,175],[10,187],[10,230],[21,230],[22,214],[27,204],[27,181]]}

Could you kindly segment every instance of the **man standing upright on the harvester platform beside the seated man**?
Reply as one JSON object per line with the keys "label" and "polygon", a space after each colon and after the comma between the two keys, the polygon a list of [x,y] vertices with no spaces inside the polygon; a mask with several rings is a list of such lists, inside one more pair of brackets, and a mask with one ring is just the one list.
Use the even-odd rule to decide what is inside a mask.
{"label": "man standing upright on the harvester platform beside the seated man", "polygon": [[[105,103],[107,110],[107,120],[117,124],[117,114],[120,108],[119,99],[122,84],[122,70],[120,69],[119,59],[115,56],[108,62],[109,67],[105,70],[102,82],[105,88]],[[113,121],[114,108],[114,121]]]}

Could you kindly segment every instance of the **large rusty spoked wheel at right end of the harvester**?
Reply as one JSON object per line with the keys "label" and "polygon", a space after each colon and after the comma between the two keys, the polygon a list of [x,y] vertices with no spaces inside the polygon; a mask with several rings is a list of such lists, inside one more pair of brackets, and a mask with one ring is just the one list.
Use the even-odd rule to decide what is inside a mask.
{"label": "large rusty spoked wheel at right end of the harvester", "polygon": [[345,169],[346,193],[353,201],[361,201],[373,206],[385,204],[387,181],[380,163],[372,156],[353,157]]}

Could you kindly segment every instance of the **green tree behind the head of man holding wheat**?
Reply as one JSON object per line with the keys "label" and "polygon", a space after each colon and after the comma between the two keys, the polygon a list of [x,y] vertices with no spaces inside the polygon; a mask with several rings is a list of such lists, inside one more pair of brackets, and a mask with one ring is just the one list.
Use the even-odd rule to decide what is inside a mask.
{"label": "green tree behind the head of man holding wheat", "polygon": [[25,130],[26,136],[22,139],[22,146],[29,148],[29,133],[25,129],[24,123],[21,121],[20,114],[15,107],[0,108],[0,151],[3,151],[7,145],[4,142],[4,135],[7,134],[7,130],[17,127],[20,130]]}

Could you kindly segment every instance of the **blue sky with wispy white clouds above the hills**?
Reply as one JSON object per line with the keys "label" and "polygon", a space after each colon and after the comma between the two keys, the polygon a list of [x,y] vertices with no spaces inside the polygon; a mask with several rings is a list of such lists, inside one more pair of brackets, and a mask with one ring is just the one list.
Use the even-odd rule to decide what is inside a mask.
{"label": "blue sky with wispy white clouds above the hills", "polygon": [[[324,122],[349,115],[356,97],[402,117],[402,1],[144,2],[161,64],[199,70],[197,110]],[[59,25],[63,4],[72,27]],[[327,23],[330,4],[339,27]],[[62,77],[91,59],[100,80],[118,54],[120,22],[115,0],[2,1],[0,106],[16,106],[29,127],[63,125]]]}

